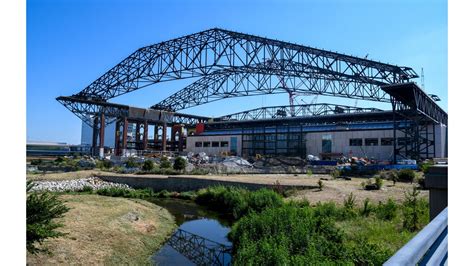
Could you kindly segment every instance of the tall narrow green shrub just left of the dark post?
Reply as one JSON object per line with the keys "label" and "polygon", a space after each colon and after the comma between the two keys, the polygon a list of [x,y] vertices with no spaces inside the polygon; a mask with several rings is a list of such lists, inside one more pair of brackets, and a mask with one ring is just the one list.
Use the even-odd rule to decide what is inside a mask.
{"label": "tall narrow green shrub just left of the dark post", "polygon": [[[411,192],[405,192],[405,201],[403,202],[403,228],[414,232],[421,228],[422,217],[428,209],[427,203],[418,198],[420,194],[415,187]],[[426,205],[426,206],[423,206]]]}

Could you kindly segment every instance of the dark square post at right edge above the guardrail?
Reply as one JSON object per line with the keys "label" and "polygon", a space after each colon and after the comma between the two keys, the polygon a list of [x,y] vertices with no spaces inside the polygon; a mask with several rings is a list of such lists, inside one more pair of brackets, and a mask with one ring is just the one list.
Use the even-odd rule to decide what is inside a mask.
{"label": "dark square post at right edge above the guardrail", "polygon": [[448,206],[448,166],[434,165],[425,176],[425,187],[430,190],[430,221]]}

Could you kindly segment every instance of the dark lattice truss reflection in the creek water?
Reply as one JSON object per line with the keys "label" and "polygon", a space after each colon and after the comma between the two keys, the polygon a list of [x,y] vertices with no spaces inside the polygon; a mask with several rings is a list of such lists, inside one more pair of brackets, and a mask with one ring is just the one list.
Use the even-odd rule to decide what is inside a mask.
{"label": "dark lattice truss reflection in the creek water", "polygon": [[197,265],[230,265],[232,247],[195,235],[182,229],[168,244]]}

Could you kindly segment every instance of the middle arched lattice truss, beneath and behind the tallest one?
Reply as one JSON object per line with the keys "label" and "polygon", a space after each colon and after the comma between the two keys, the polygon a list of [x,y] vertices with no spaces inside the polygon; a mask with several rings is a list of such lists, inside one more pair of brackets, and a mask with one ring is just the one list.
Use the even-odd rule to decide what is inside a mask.
{"label": "middle arched lattice truss, beneath and behind the tallest one", "polygon": [[255,67],[215,71],[151,108],[176,111],[225,98],[277,93],[390,102],[389,95],[380,89],[381,85],[384,83],[378,80],[354,78],[311,65],[278,60]]}

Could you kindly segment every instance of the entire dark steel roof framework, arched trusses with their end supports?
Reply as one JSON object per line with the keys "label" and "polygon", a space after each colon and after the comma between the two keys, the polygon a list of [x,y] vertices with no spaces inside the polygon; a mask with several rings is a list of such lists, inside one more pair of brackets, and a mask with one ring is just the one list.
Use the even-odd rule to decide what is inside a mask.
{"label": "entire dark steel roof framework, arched trusses with their end supports", "polygon": [[[158,110],[158,122],[162,124],[195,125],[208,118],[176,111],[230,97],[309,93],[391,102],[394,128],[400,121],[397,120],[399,117],[409,119],[416,125],[416,128],[406,129],[406,134],[415,138],[415,146],[399,149],[396,154],[418,158],[420,153],[431,154],[430,145],[434,141],[428,140],[427,125],[447,124],[447,114],[428,94],[410,82],[418,75],[409,67],[218,28],[140,48],[79,93],[58,97],[57,100],[93,126],[95,136],[99,117],[103,131],[105,126],[102,124],[110,124],[117,118],[126,119],[133,113],[132,107],[107,102],[111,98],[159,82],[193,77],[199,79],[150,109],[141,110]],[[409,87],[408,94],[396,89],[397,86],[405,85]],[[325,121],[347,120],[347,115],[341,117],[342,113],[336,112],[341,111],[341,106],[337,110],[336,105],[320,105],[320,109],[316,110],[308,106],[296,107],[296,111],[294,108],[267,107],[217,120],[233,122],[249,118],[266,120],[294,117],[295,122],[304,123],[308,120],[306,114],[326,114],[322,119]],[[358,119],[380,119],[386,116],[374,108],[346,108],[346,111]],[[162,119],[161,114],[166,117]],[[423,148],[423,143],[428,147]]]}

